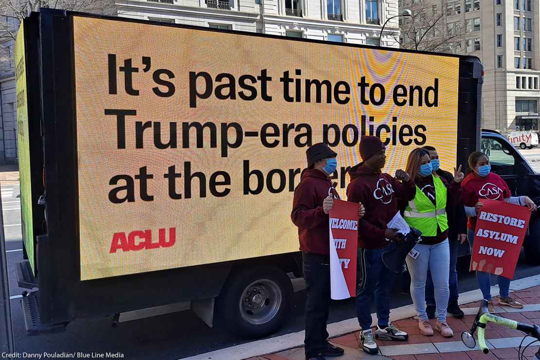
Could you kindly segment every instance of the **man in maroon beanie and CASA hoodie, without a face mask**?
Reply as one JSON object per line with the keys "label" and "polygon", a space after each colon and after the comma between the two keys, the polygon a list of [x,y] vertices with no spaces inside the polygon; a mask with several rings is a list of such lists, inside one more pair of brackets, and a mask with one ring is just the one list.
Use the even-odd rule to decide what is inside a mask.
{"label": "man in maroon beanie and CASA hoodie, without a face mask", "polygon": [[[409,338],[407,332],[389,322],[389,293],[396,274],[384,266],[381,255],[389,240],[397,236],[395,229],[387,228],[398,211],[397,198],[413,199],[416,189],[403,170],[397,170],[395,178],[381,172],[386,164],[386,148],[379,138],[363,137],[359,147],[363,161],[350,169],[347,186],[347,200],[363,203],[367,212],[358,227],[356,315],[361,327],[360,345],[367,354],[376,355],[379,348],[375,337],[395,341]],[[374,298],[378,321],[375,334],[371,328]]]}

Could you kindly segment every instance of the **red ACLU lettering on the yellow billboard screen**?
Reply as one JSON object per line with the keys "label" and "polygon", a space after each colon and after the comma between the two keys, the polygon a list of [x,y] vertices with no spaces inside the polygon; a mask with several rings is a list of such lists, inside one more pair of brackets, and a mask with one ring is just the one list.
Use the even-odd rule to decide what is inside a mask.
{"label": "red ACLU lettering on the yellow billboard screen", "polygon": [[112,235],[111,250],[109,254],[116,253],[116,250],[123,252],[148,250],[156,248],[168,248],[176,242],[176,228],[169,228],[169,238],[166,238],[166,229],[159,229],[158,242],[152,242],[152,230],[133,230],[126,236],[126,233],[114,233]]}

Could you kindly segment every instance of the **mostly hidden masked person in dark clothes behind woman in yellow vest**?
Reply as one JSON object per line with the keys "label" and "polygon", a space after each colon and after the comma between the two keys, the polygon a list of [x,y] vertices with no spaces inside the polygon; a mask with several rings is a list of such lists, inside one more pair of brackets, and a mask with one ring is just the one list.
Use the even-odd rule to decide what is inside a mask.
{"label": "mostly hidden masked person in dark clothes behind woman in yellow vest", "polygon": [[[446,180],[448,184],[452,184],[454,181],[454,175],[440,168],[437,150],[432,146],[424,146],[423,149],[427,150],[429,153],[431,167],[433,167],[434,174]],[[467,216],[465,216],[465,209],[463,208],[463,203],[461,202],[456,203],[455,206],[447,203],[446,213],[448,216],[448,245],[450,248],[450,276],[448,279],[450,298],[448,300],[447,312],[454,317],[461,318],[465,314],[457,304],[459,293],[457,290],[456,264],[460,243],[467,241]],[[433,287],[433,280],[431,280],[431,271],[429,270],[426,280],[426,304],[428,318],[434,319],[436,311],[435,290]]]}

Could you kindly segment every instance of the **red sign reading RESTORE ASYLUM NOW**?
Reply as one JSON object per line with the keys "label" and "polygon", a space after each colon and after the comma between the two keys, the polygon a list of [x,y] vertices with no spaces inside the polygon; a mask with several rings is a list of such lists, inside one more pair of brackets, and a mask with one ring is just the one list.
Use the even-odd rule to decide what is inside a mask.
{"label": "red sign reading RESTORE ASYLUM NOW", "polygon": [[531,213],[508,202],[481,201],[470,269],[512,279]]}

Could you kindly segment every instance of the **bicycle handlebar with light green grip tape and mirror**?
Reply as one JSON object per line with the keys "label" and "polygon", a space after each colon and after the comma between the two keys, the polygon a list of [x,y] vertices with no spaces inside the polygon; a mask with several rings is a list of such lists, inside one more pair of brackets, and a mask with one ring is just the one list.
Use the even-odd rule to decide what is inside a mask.
{"label": "bicycle handlebar with light green grip tape and mirror", "polygon": [[490,314],[488,310],[488,301],[484,300],[482,302],[482,306],[478,310],[478,314],[476,314],[476,319],[473,323],[473,327],[471,327],[471,335],[473,336],[474,332],[478,330],[478,346],[484,354],[489,353],[489,349],[485,344],[485,327],[488,322],[503,325],[504,327],[510,329],[517,329],[523,331],[526,334],[540,340],[540,327],[538,327],[538,325],[524,324],[505,317]]}

